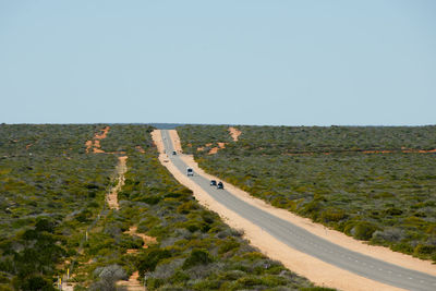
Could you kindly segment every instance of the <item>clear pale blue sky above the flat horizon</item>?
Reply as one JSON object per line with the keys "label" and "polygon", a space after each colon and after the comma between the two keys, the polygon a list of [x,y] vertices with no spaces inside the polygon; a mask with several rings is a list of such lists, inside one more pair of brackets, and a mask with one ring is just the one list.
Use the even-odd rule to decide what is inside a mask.
{"label": "clear pale blue sky above the flat horizon", "polygon": [[436,1],[0,0],[0,122],[436,124]]}

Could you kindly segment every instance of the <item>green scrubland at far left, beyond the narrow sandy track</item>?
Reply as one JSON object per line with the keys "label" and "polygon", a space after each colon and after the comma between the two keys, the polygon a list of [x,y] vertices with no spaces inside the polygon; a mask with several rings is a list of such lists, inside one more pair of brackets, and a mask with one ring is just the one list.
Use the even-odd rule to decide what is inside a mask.
{"label": "green scrubland at far left, beyond the narrow sandy track", "polygon": [[51,289],[104,205],[116,163],[86,156],[98,125],[0,125],[0,284]]}

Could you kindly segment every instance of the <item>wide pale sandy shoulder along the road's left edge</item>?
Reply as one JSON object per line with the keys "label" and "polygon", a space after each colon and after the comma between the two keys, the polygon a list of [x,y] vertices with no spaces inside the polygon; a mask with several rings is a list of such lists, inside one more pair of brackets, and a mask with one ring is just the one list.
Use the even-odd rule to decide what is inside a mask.
{"label": "wide pale sandy shoulder along the road's left edge", "polygon": [[[168,161],[168,156],[164,154],[162,140],[160,131],[154,131],[152,134],[159,151],[160,162],[174,175],[174,178],[187,186],[194,192],[195,198],[205,206],[206,208],[217,213],[226,223],[234,229],[242,229],[244,231],[244,238],[250,241],[250,243],[259,248],[262,253],[268,257],[281,262],[290,270],[302,275],[315,282],[318,286],[338,288],[342,290],[402,290],[393,288],[391,286],[383,284],[360,276],[356,276],[350,271],[340,269],[332,265],[329,265],[323,260],[315,257],[306,255],[302,252],[293,250],[286,245],[284,243],[278,241],[269,233],[263,231],[256,225],[250,222],[249,220],[240,217],[234,211],[229,210],[223,205],[217,203],[211,198],[207,192],[194,183],[190,178],[180,172],[175,166]],[[172,136],[171,136],[172,137]],[[211,178],[211,175],[205,174],[196,163],[193,161],[192,157],[180,155],[183,160],[189,161],[193,166],[197,173],[204,174],[205,177]],[[228,190],[230,185],[226,183]],[[233,190],[230,190],[233,191]],[[241,196],[241,193],[237,194]],[[243,197],[245,201],[247,197]],[[257,206],[257,203],[254,202]],[[259,235],[262,234],[262,235]]]}

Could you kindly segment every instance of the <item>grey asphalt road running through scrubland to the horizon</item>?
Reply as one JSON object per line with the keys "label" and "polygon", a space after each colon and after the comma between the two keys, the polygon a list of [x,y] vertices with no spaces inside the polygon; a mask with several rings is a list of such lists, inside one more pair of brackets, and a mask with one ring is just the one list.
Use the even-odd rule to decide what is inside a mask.
{"label": "grey asphalt road running through scrubland to the horizon", "polygon": [[[166,153],[174,166],[186,172],[186,165],[178,155],[172,155],[173,146],[168,131],[162,130]],[[360,253],[350,251],[326,241],[289,221],[272,216],[252,206],[226,190],[217,190],[209,185],[209,180],[198,174],[190,178],[206,191],[218,203],[239,214],[241,217],[261,227],[276,239],[300,252],[317,257],[328,264],[349,270],[359,276],[383,282],[385,284],[408,290],[436,290],[436,277],[424,272],[407,269]]]}

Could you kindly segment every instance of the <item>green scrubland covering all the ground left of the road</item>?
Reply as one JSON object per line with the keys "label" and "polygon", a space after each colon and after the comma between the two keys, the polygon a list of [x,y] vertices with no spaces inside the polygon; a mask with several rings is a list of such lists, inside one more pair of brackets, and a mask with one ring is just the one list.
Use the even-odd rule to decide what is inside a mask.
{"label": "green scrubland covering all the ground left of the road", "polygon": [[[110,125],[100,144],[116,154],[86,154],[102,126],[0,125],[0,290],[52,290],[66,268],[75,290],[116,290],[135,270],[148,290],[325,290],[199,206],[159,163],[152,128]],[[111,210],[117,155],[128,172]]]}

